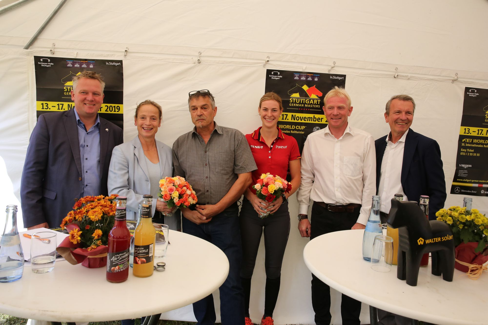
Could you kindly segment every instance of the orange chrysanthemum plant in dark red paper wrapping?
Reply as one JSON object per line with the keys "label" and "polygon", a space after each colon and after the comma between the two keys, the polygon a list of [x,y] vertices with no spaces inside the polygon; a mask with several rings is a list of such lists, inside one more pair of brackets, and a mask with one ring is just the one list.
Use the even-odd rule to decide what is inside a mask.
{"label": "orange chrysanthemum plant in dark red paper wrapping", "polygon": [[58,253],[71,264],[106,266],[108,233],[114,226],[117,194],[85,196],[73,206],[61,223],[69,236],[58,246]]}

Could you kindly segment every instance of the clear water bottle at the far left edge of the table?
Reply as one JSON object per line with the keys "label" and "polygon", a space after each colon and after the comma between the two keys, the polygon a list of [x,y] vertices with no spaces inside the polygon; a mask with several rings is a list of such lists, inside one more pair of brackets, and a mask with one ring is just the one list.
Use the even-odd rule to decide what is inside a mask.
{"label": "clear water bottle at the far left edge of the table", "polygon": [[0,282],[12,282],[22,277],[24,254],[17,230],[17,205],[7,205],[5,230],[0,240]]}

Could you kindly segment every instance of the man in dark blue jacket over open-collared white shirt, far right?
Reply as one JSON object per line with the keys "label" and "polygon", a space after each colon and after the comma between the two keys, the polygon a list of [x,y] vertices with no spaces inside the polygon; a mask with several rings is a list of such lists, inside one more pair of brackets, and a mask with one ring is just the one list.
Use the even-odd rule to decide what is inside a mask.
{"label": "man in dark blue jacket over open-collared white shirt, far right", "polygon": [[[381,196],[380,215],[386,222],[391,199],[403,194],[404,200],[419,201],[429,196],[429,220],[444,207],[446,181],[439,144],[410,129],[415,102],[408,95],[395,95],[386,103],[385,121],[390,133],[375,141],[376,189]],[[410,324],[410,319],[378,309],[378,324]]]}

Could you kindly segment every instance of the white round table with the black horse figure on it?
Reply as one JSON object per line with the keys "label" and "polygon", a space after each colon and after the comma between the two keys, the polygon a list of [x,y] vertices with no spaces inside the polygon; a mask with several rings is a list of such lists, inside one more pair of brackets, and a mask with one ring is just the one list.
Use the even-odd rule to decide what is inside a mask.
{"label": "white round table with the black horse figure on it", "polygon": [[471,280],[454,270],[452,282],[421,267],[417,286],[371,269],[362,256],[364,230],[328,233],[306,244],[306,266],[332,288],[368,305],[439,325],[488,324],[488,274]]}

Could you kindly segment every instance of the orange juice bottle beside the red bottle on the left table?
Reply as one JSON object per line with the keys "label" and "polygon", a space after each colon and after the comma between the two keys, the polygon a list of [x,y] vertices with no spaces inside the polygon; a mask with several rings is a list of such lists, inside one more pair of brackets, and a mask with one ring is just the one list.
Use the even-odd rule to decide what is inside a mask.
{"label": "orange juice bottle beside the red bottle on the left table", "polygon": [[152,224],[152,195],[143,195],[139,204],[139,224],[134,231],[134,276],[145,278],[154,271],[156,229]]}

